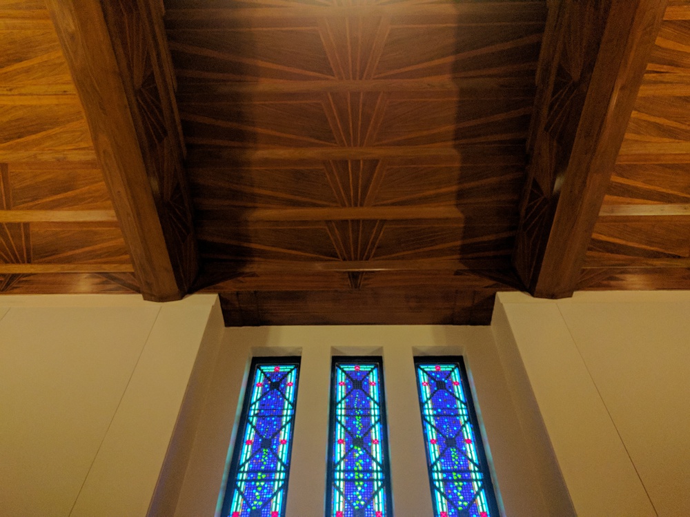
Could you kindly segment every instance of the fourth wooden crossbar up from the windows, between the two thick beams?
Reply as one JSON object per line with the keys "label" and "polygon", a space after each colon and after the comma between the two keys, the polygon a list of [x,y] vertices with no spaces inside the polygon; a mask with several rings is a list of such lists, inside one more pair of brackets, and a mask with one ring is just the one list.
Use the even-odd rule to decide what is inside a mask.
{"label": "fourth wooden crossbar up from the windows, between the two thick beams", "polygon": [[[181,71],[181,77],[185,72]],[[687,85],[686,85],[687,86]],[[529,79],[480,77],[469,79],[365,79],[361,81],[204,81],[188,78],[177,91],[180,103],[217,101],[218,94],[308,93],[308,92],[397,92],[441,90],[455,92],[458,99],[533,98]]]}

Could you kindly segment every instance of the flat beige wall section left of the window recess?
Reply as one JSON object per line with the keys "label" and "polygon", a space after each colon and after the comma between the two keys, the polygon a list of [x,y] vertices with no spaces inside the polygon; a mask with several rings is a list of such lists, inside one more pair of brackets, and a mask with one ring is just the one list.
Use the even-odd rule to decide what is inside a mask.
{"label": "flat beige wall section left of the window recess", "polygon": [[144,516],[215,296],[0,298],[0,514]]}

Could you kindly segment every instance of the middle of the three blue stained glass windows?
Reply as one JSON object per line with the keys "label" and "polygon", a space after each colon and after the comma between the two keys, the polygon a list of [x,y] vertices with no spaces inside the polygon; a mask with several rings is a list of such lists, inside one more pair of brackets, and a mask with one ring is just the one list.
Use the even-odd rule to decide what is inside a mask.
{"label": "middle of the three blue stained glass windows", "polygon": [[329,517],[391,517],[391,469],[380,357],[334,357]]}

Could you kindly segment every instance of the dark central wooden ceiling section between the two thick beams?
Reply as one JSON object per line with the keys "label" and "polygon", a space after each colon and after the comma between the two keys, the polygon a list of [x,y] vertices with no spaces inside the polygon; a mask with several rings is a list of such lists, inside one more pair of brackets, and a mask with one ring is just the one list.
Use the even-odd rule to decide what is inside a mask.
{"label": "dark central wooden ceiling section between the two thick beams", "polygon": [[518,285],[544,1],[166,6],[228,324],[489,321]]}

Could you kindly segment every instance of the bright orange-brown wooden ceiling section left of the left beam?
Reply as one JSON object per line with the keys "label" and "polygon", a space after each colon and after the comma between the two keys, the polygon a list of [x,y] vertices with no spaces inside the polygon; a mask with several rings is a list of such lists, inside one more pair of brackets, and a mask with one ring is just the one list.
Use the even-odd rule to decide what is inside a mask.
{"label": "bright orange-brown wooden ceiling section left of the left beam", "polygon": [[0,41],[0,292],[112,292],[132,264],[45,3],[0,2]]}

